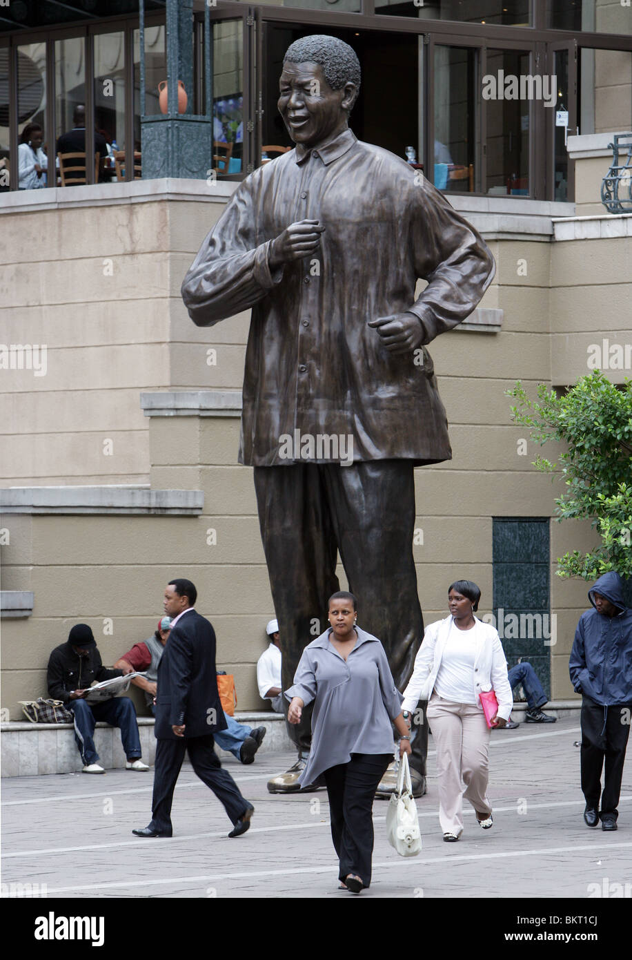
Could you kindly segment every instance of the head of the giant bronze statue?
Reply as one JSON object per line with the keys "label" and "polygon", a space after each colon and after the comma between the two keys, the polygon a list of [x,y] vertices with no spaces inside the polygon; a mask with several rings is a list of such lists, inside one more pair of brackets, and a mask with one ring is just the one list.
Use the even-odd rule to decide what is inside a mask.
{"label": "head of the giant bronze statue", "polygon": [[336,36],[304,36],[288,48],[278,108],[294,143],[316,147],[343,131],[360,90],[360,61]]}

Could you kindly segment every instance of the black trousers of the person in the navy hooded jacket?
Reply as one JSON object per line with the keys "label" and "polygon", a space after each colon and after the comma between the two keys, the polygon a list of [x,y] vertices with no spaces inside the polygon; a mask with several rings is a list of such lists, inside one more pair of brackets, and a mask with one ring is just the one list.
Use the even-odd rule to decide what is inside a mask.
{"label": "black trousers of the person in the navy hooded jacket", "polygon": [[[602,707],[590,697],[581,701],[581,789],[586,804],[604,813],[619,815],[617,805],[623,777],[625,748],[630,732],[632,704]],[[605,761],[603,793],[601,769]]]}

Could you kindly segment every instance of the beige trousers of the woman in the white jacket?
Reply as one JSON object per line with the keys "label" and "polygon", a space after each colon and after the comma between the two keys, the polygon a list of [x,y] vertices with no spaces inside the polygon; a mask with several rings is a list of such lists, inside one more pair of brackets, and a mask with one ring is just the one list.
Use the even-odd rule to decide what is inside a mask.
{"label": "beige trousers of the woman in the white jacket", "polygon": [[426,715],[436,745],[439,823],[443,833],[458,836],[463,831],[463,797],[478,813],[492,812],[487,799],[489,728],[479,707],[453,704],[436,693]]}

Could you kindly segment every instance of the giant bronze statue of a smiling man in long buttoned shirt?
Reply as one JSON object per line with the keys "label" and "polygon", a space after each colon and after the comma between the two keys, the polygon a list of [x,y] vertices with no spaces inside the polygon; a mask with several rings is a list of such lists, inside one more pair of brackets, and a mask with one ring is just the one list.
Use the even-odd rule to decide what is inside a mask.
{"label": "giant bronze statue of a smiling man in long buttoned shirt", "polygon": [[[346,43],[290,46],[278,108],[295,147],[240,183],[182,285],[199,326],[252,307],[239,459],[254,467],[284,688],[325,628],[338,552],[359,622],[406,686],[424,632],[413,468],[452,456],[425,345],[465,320],[495,271],[431,183],[349,130],[359,88]],[[412,730],[419,796],[428,731]],[[309,751],[309,710],[289,731]],[[292,789],[300,769],[269,789]]]}

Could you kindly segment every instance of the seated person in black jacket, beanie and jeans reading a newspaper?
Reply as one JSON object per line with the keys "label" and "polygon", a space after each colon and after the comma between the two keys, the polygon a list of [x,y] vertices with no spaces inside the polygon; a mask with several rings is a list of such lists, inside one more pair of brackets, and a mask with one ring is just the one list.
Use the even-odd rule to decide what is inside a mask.
{"label": "seated person in black jacket, beanie and jeans reading a newspaper", "polygon": [[95,681],[101,683],[121,676],[123,670],[108,670],[103,665],[97,641],[86,623],[76,623],[67,641],[59,644],[48,660],[48,695],[75,714],[75,742],[82,755],[84,774],[105,774],[94,745],[97,721],[120,728],[127,770],[150,769],[141,759],[136,710],[129,697],[112,697],[100,704],[87,704],[84,699]]}

